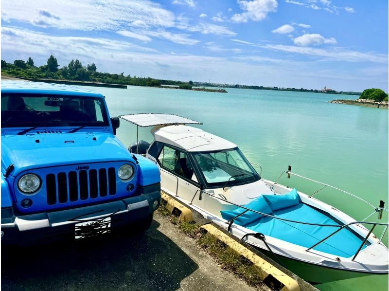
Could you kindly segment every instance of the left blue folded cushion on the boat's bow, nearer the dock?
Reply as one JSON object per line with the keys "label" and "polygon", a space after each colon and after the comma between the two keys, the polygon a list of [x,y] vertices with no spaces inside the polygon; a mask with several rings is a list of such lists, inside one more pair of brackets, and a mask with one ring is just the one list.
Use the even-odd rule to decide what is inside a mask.
{"label": "left blue folded cushion on the boat's bow, nearer the dock", "polygon": [[[266,200],[264,199],[263,195],[256,198],[255,200],[252,200],[250,203],[248,203],[247,205],[244,205],[245,207],[249,208],[249,209],[252,209],[252,210],[255,210],[255,211],[258,211],[258,212],[262,212],[262,213],[265,213],[265,214],[272,214],[272,211],[269,207],[269,205],[267,205],[267,202]],[[243,213],[246,209],[244,208],[237,208],[235,210],[225,210],[225,211],[220,211],[221,215],[222,215],[222,218],[224,219],[227,219],[227,220],[230,220],[234,217],[236,217],[237,215]],[[234,223],[237,223],[239,225],[246,225],[254,220],[257,220],[261,217],[264,217],[262,214],[258,214],[258,213],[255,213],[255,212],[252,212],[252,211],[248,211],[246,212],[245,214],[241,215],[240,217],[236,218],[234,220]]]}

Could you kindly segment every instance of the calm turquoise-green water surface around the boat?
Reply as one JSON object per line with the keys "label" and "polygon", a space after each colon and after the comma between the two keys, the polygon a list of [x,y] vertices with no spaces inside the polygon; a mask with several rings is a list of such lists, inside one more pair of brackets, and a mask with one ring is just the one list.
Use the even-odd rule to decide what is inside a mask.
{"label": "calm turquoise-green water surface around the boat", "polygon": [[[345,104],[333,99],[357,96],[306,92],[229,89],[228,93],[128,86],[127,89],[93,88],[106,96],[111,116],[131,113],[171,113],[239,146],[250,162],[260,164],[262,176],[275,181],[288,165],[292,171],[351,192],[378,206],[388,207],[388,110]],[[151,142],[151,128],[140,128],[140,140]],[[121,120],[118,137],[124,145],[136,141],[136,126]],[[306,194],[321,186],[298,177],[280,183]],[[316,198],[355,219],[374,209],[328,188]],[[370,218],[379,221],[377,214]],[[388,221],[384,214],[382,222]],[[380,236],[381,228],[374,234]],[[388,244],[388,233],[384,237]],[[371,289],[388,289],[388,276],[364,277]],[[365,283],[367,282],[367,283]],[[330,290],[330,289],[328,289]]]}

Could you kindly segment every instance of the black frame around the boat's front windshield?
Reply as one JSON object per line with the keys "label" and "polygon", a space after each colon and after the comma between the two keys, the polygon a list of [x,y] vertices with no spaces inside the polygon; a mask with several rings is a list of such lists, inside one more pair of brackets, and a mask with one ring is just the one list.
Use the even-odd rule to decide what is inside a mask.
{"label": "black frame around the boat's front windshield", "polygon": [[[244,170],[240,167],[237,167],[239,168],[240,172],[238,172],[237,174],[248,174],[248,176],[245,176],[245,175],[242,175],[240,177],[236,177],[234,178],[233,180],[231,179],[231,177],[237,175],[237,174],[234,174],[234,175],[230,175],[230,177],[228,177],[225,181],[220,181],[220,182],[209,182],[207,180],[207,178],[205,177],[204,173],[203,173],[203,170],[202,170],[202,167],[201,165],[199,164],[197,158],[196,158],[196,155],[204,155],[204,154],[214,154],[214,153],[225,153],[225,152],[228,152],[228,151],[236,151],[239,156],[240,156],[240,161],[242,161],[247,167],[248,169],[251,171],[247,171],[247,170]],[[252,182],[257,182],[259,180],[261,180],[261,176],[260,174],[254,169],[254,167],[248,162],[248,160],[246,159],[246,157],[244,156],[244,154],[241,152],[241,150],[236,146],[236,147],[233,147],[233,148],[229,148],[229,149],[219,149],[219,150],[212,150],[212,151],[191,151],[191,152],[188,152],[190,153],[191,157],[192,157],[192,160],[194,162],[194,166],[196,168],[196,172],[197,174],[201,177],[201,180],[203,180],[204,182],[204,188],[205,189],[216,189],[216,188],[222,188],[222,187],[225,187],[225,186],[228,186],[228,187],[232,187],[232,186],[239,186],[239,185],[245,185],[245,184],[248,184],[248,183],[252,183]],[[220,160],[217,161],[218,163],[224,163]],[[227,164],[227,166],[230,166],[230,164]],[[231,179],[229,181],[229,179]],[[227,183],[227,185],[226,185]]]}

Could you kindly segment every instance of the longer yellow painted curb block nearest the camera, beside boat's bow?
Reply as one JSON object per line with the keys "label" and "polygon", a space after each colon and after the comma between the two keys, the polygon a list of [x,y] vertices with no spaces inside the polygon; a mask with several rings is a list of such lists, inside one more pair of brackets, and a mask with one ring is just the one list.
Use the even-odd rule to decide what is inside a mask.
{"label": "longer yellow painted curb block nearest the camera, beside boat's bow", "polygon": [[282,291],[300,291],[300,286],[295,279],[278,270],[276,267],[265,261],[263,258],[245,248],[242,244],[232,239],[230,236],[226,235],[222,231],[218,230],[212,224],[206,224],[201,226],[200,228],[206,230],[212,236],[215,236],[217,239],[228,245],[231,249],[238,252],[240,255],[243,255],[254,265],[258,266],[264,278],[271,275],[276,280],[281,282],[284,285],[281,289]]}

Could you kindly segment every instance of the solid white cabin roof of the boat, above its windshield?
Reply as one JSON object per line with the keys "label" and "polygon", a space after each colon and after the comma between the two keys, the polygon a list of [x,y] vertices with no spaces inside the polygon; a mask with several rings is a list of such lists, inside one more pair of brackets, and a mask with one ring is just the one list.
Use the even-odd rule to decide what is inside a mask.
{"label": "solid white cabin roof of the boat, above its windshield", "polygon": [[187,151],[214,151],[237,147],[237,145],[200,128],[172,125],[153,130],[157,142],[174,145]]}

